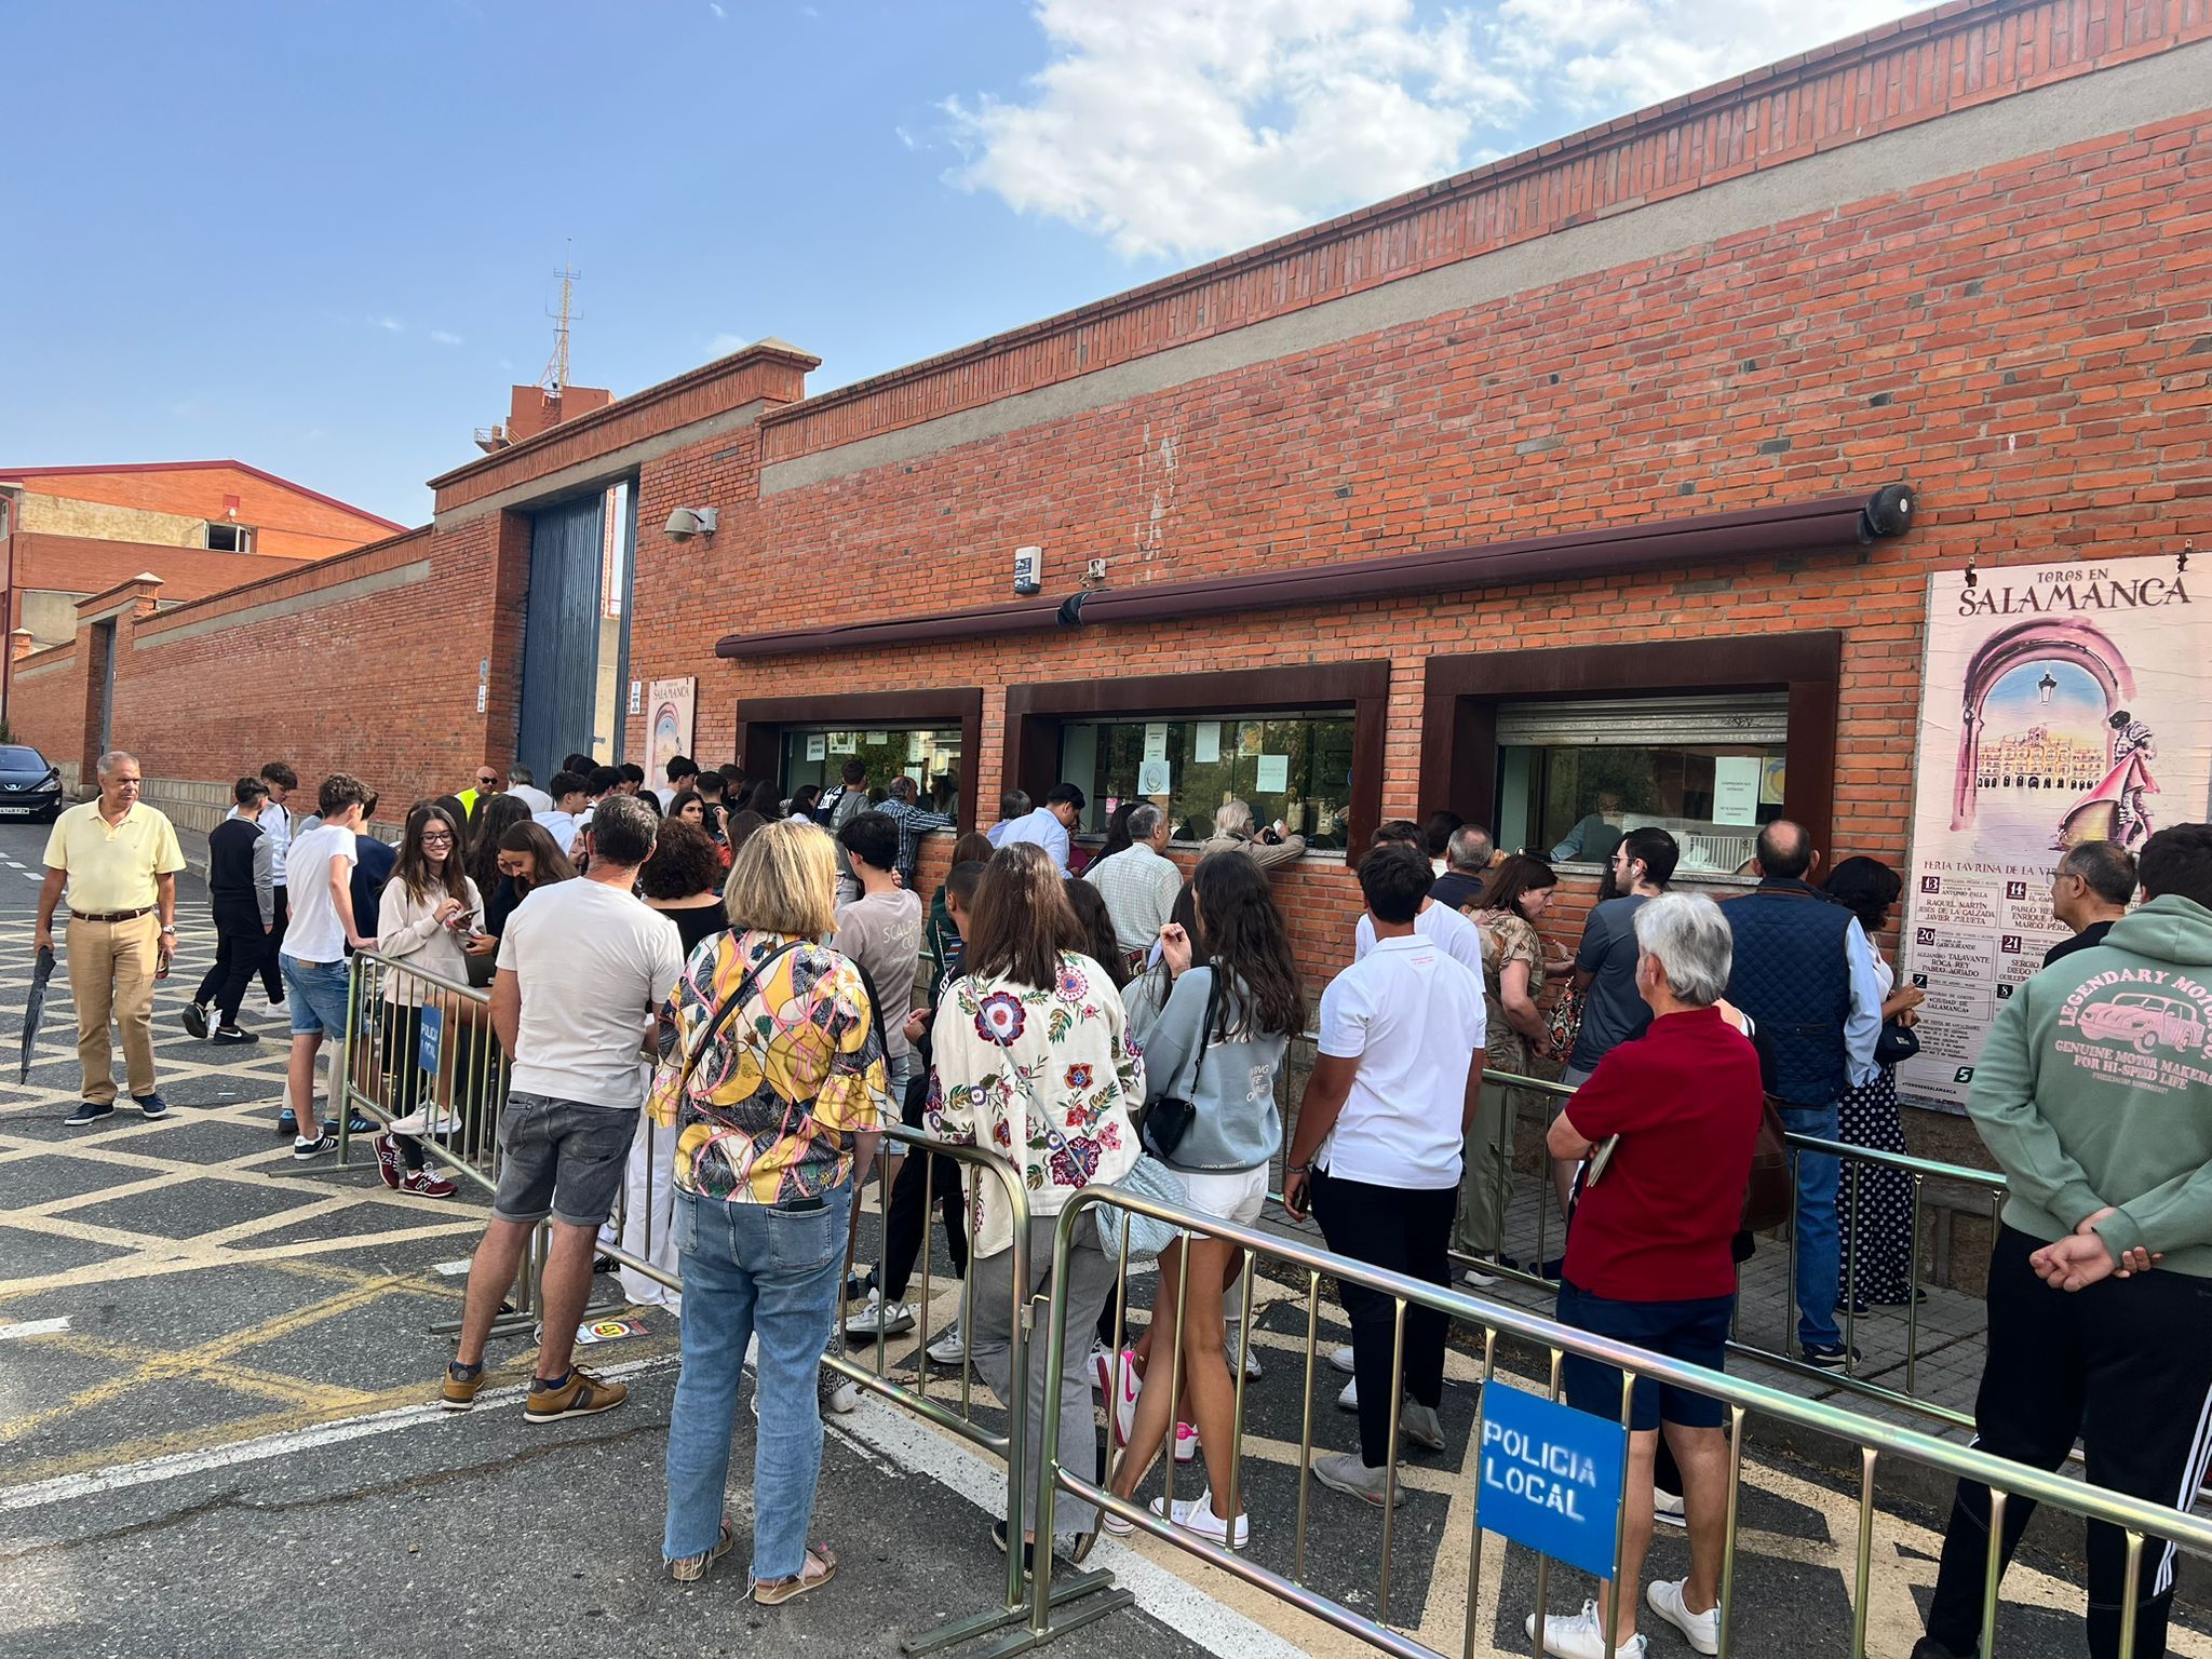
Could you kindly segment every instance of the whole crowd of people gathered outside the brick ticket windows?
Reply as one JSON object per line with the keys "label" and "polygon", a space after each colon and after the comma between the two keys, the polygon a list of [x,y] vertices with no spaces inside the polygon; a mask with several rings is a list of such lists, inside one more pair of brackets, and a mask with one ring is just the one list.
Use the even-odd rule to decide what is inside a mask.
{"label": "whole crowd of people gathered outside the brick ticket windows", "polygon": [[[1745,1188],[1765,1113],[1805,1137],[1905,1150],[1893,1064],[1911,1048],[1922,991],[1900,984],[1880,949],[1902,883],[1867,856],[1820,880],[1820,849],[1790,821],[1759,830],[1756,885],[1725,905],[1677,889],[1666,830],[1613,836],[1573,951],[1546,927],[1553,858],[1504,854],[1442,812],[1380,825],[1356,872],[1352,958],[1318,989],[1318,1055],[1285,1133],[1279,1075],[1312,987],[1270,869],[1298,849],[1254,834],[1245,803],[1214,812],[1217,834],[1186,869],[1155,803],[1126,803],[1106,847],[1082,860],[1077,785],[1055,785],[1042,805],[1009,792],[987,834],[956,841],[925,905],[920,838],[953,823],[920,805],[911,779],[878,799],[852,763],[836,787],[783,799],[774,781],[679,757],[655,792],[637,768],[584,759],[542,794],[520,768],[480,768],[471,790],[409,807],[396,852],[374,836],[376,796],[358,779],[325,779],[305,818],[288,807],[290,768],[241,779],[210,836],[217,962],[184,1022],[210,1042],[252,1042],[239,1011],[257,975],[290,1009],[301,1117],[288,1128],[294,1157],[310,1159],[332,1148],[334,1124],[312,1102],[316,1051],[347,1031],[347,953],[414,969],[420,978],[387,978],[378,1013],[383,1071],[411,1082],[389,1095],[392,1124],[361,1128],[378,1130],[392,1186],[442,1197],[451,1183],[425,1144],[484,1102],[456,1102],[425,1075],[436,998],[422,987],[489,984],[489,1033],[476,1040],[495,1040],[511,1073],[449,1409],[476,1402],[500,1298],[544,1221],[544,1329],[524,1416],[551,1422],[624,1400],[622,1385],[575,1365],[573,1336],[644,1139],[639,1106],[668,1130],[655,1201],[668,1203],[684,1283],[684,1369],[664,1557],[684,1582],[737,1540],[723,1489],[748,1347],[752,1595],[783,1601],[836,1573],[836,1553],[807,1533],[821,1407],[849,1405],[849,1387],[821,1358],[845,1336],[911,1329],[905,1294],[931,1188],[975,1294],[967,1329],[940,1332],[929,1356],[973,1365],[1011,1398],[1015,1307],[1062,1303],[1068,1327],[1097,1345],[1066,1347],[1057,1458],[1091,1467],[1104,1405],[1115,1498],[1133,1500],[1164,1455],[1201,1460],[1201,1491],[1152,1509],[1241,1546],[1252,1517],[1234,1374],[1259,1374],[1232,1318],[1243,1254],[1203,1228],[1170,1241],[1150,1323],[1130,1343],[1113,1305],[1110,1230],[1077,1230],[1053,1272],[1060,1214],[1084,1188],[1135,1181],[1148,1164],[1146,1190],[1248,1225],[1283,1155],[1285,1210],[1312,1214],[1345,1259],[1436,1285],[1458,1274],[1475,1290],[1500,1270],[1535,1270],[1557,1281],[1562,1325],[1719,1371],[1736,1270],[1754,1248]],[[133,1102],[146,1117],[166,1113],[148,1015],[184,867],[168,821],[137,801],[137,761],[102,757],[100,783],[100,799],[53,830],[38,916],[51,945],[66,883],[84,1062],[84,1104],[69,1121],[80,1126],[115,1110],[111,1018]],[[2070,847],[2053,872],[2053,914],[2075,938],[2004,1002],[1969,1108],[2011,1188],[1978,1427],[1986,1449],[2042,1467],[2088,1429],[2093,1480],[2159,1502],[2179,1491],[2185,1504],[2205,1478],[2201,1402],[2212,1396],[2212,1084],[2185,1055],[2159,1057],[2159,1026],[2099,1022],[2084,1002],[2126,982],[2212,1002],[2192,978],[2212,967],[2212,827],[2161,830],[2139,858],[2108,843]],[[440,1024],[469,1042],[467,1022]],[[2185,1033],[2166,1046],[2185,1048]],[[1484,1091],[1484,1073],[1542,1066],[1559,1066],[1573,1091],[1544,1130],[1566,1245],[1551,1261],[1513,1261],[1502,1197],[1528,1099]],[[1018,1170],[1024,1252],[995,1181],[909,1157],[887,1172],[883,1283],[847,1279],[856,1188],[894,1117]],[[1796,1358],[1847,1369],[1856,1356],[1838,1318],[1916,1294],[1909,1188],[1876,1172],[1840,1203],[1836,1157],[1792,1161]],[[858,1307],[834,1329],[841,1294]],[[1447,1447],[1447,1318],[1409,1305],[1400,1325],[1396,1298],[1356,1281],[1340,1298],[1352,1343],[1332,1363],[1352,1374],[1340,1405],[1358,1416],[1358,1449],[1318,1458],[1314,1478],[1383,1506],[1405,1495],[1391,1480],[1400,1442]],[[1033,1438],[1046,1356],[1046,1343],[1029,1345]],[[1528,1637],[1559,1659],[1608,1644],[1641,1655],[1632,1588],[1655,1522],[1674,1522],[1688,1528],[1690,1571],[1655,1582],[1644,1606],[1697,1652],[1717,1652],[1721,1405],[1648,1378],[1628,1385],[1577,1354],[1562,1385],[1575,1407],[1628,1413],[1624,1595],[1610,1630],[1593,1599],[1579,1615],[1531,1613]],[[2000,1559],[2026,1511],[2006,1506]],[[1980,1639],[1989,1515],[1989,1493],[1962,1484],[1916,1659]],[[1102,1526],[1128,1531],[1073,1495],[1055,1520],[1048,1546],[1071,1559]],[[1004,1524],[998,1542],[1040,1546]],[[2093,1526],[2093,1652],[2117,1652],[2130,1597],[2137,1655],[2161,1652],[2172,1546],[2148,1548],[2128,1584],[2119,1535]]]}

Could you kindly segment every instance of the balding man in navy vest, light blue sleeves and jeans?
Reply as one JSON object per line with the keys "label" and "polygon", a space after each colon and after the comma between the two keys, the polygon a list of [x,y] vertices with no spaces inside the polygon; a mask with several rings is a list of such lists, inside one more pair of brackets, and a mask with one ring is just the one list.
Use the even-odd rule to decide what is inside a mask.
{"label": "balding man in navy vest, light blue sleeves and jeans", "polygon": [[[1882,991],[1874,945],[1858,918],[1807,885],[1820,863],[1805,825],[1776,818],[1759,832],[1759,889],[1721,907],[1736,936],[1728,1000],[1774,1044],[1774,1095],[1792,1135],[1836,1139],[1836,1102],[1874,1079]],[[1836,1228],[1838,1166],[1796,1159],[1798,1354],[1827,1371],[1856,1354],[1836,1329],[1843,1281]]]}

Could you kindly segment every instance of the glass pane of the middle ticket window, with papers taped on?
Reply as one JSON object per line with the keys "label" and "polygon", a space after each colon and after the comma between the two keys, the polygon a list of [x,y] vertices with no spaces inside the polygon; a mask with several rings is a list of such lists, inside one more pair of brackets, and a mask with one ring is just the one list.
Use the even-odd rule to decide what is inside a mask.
{"label": "glass pane of the middle ticket window, with papers taped on", "polygon": [[1338,849],[1352,805],[1352,717],[1075,721],[1062,728],[1060,776],[1088,796],[1077,834],[1104,834],[1115,807],[1146,799],[1168,810],[1177,841],[1206,841],[1221,803],[1241,799],[1256,823]]}

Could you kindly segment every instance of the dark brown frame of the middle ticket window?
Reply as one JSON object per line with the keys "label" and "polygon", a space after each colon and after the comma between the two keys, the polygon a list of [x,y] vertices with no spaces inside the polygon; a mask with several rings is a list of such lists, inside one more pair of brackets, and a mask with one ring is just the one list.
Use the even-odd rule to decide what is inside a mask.
{"label": "dark brown frame of the middle ticket window", "polygon": [[1316,661],[1287,668],[1221,668],[1183,675],[1048,679],[1006,688],[1004,785],[1042,801],[1060,783],[1066,726],[1124,719],[1230,719],[1352,714],[1352,801],[1345,849],[1312,858],[1358,863],[1383,816],[1389,723],[1387,661]]}

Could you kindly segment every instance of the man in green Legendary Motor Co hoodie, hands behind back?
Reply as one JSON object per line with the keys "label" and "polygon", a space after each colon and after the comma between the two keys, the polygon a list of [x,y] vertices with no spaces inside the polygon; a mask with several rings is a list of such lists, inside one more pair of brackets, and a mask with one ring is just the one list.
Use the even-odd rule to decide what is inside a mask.
{"label": "man in green Legendary Motor Co hoodie, hands behind back", "polygon": [[[2011,1194],[1989,1261],[1975,1444],[2057,1469],[2086,1433],[2097,1486],[2188,1509],[2212,1460],[2212,825],[2143,843],[2146,902],[1997,1013],[1966,1110]],[[2011,1562],[2035,1504],[2004,1506]],[[1980,1650],[1989,1489],[1960,1482],[1913,1659]],[[2000,1568],[2002,1571],[2002,1568]],[[2166,1652],[2174,1546],[2088,1526],[2088,1650]]]}

